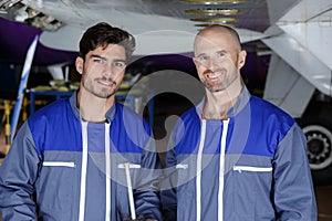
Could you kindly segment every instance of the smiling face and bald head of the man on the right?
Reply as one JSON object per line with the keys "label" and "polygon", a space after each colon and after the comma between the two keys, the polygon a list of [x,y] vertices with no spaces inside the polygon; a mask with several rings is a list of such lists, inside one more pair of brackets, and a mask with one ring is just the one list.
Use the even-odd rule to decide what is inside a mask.
{"label": "smiling face and bald head of the man on the right", "polygon": [[195,41],[193,61],[200,81],[212,93],[241,81],[240,69],[245,59],[246,52],[240,51],[227,31],[206,31]]}

